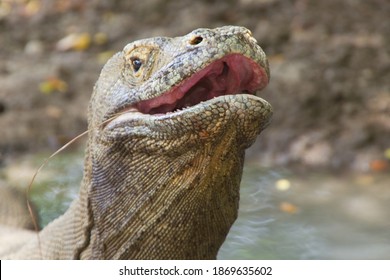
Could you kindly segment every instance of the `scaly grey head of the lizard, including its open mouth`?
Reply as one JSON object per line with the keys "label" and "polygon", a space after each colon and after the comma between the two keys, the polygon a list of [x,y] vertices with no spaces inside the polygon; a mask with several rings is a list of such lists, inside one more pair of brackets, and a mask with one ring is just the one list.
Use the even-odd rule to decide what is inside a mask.
{"label": "scaly grey head of the lizard, including its open mouth", "polygon": [[[253,139],[249,138],[268,124],[272,114],[271,106],[256,96],[269,78],[265,53],[243,27],[198,29],[183,37],[139,40],[128,44],[104,67],[91,102],[95,108],[90,110],[90,122],[95,127],[103,124],[106,135],[113,138],[148,127],[149,137],[203,133],[210,139],[215,138],[213,131],[218,133],[215,123],[198,123],[196,130],[191,120],[207,115],[226,124],[232,120],[242,126],[257,122],[260,125],[248,124],[242,130],[251,135],[250,145]],[[242,110],[245,114],[237,118]],[[167,123],[173,124],[170,129],[175,131],[163,136]],[[250,127],[255,133],[247,131]]]}

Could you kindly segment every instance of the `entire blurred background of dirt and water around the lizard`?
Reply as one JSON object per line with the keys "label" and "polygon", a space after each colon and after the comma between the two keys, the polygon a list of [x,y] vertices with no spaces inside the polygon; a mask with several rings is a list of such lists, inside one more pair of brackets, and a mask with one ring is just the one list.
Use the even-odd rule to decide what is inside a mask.
{"label": "entire blurred background of dirt and water around the lizard", "polygon": [[[387,0],[0,0],[0,180],[26,188],[87,129],[101,67],[136,39],[242,25],[268,55],[272,124],[247,153],[220,258],[390,258]],[[77,195],[85,140],[32,189],[44,226]]]}

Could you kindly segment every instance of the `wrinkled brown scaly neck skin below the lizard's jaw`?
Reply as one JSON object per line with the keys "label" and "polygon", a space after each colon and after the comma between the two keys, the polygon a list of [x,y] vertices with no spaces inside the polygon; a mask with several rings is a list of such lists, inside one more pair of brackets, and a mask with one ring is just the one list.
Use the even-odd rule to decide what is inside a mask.
{"label": "wrinkled brown scaly neck skin below the lizard's jaw", "polygon": [[231,126],[216,141],[168,146],[164,139],[96,139],[85,256],[215,259],[237,217],[244,149],[235,133]]}

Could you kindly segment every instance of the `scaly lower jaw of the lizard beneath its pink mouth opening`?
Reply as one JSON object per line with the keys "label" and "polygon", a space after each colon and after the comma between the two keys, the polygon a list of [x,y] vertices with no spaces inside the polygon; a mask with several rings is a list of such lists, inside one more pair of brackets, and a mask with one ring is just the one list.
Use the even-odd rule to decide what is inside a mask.
{"label": "scaly lower jaw of the lizard beneath its pink mouth opening", "polygon": [[126,111],[107,123],[104,131],[112,137],[125,137],[128,134],[165,140],[188,135],[212,138],[216,128],[224,129],[232,124],[243,132],[248,129],[257,131],[259,127],[266,126],[271,115],[271,105],[260,97],[225,95],[166,114],[148,115]]}

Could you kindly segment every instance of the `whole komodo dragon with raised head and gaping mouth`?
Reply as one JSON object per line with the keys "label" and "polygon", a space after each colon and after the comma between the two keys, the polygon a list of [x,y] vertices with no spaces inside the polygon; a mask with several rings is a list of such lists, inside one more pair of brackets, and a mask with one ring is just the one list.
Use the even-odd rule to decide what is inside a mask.
{"label": "whole komodo dragon with raised head and gaping mouth", "polygon": [[243,27],[128,44],[94,88],[79,197],[2,258],[215,259],[272,115],[255,95],[268,81]]}

